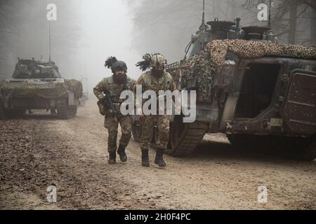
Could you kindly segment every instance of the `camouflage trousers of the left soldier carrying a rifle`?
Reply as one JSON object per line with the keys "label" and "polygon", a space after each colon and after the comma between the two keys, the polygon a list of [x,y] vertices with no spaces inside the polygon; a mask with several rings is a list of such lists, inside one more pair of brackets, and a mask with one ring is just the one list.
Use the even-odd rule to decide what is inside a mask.
{"label": "camouflage trousers of the left soldier carrying a rifle", "polygon": [[117,116],[117,120],[111,114],[105,116],[104,127],[109,132],[109,138],[107,139],[107,151],[117,151],[117,133],[119,125],[121,125],[121,139],[119,144],[126,147],[131,140],[131,118],[129,116]]}

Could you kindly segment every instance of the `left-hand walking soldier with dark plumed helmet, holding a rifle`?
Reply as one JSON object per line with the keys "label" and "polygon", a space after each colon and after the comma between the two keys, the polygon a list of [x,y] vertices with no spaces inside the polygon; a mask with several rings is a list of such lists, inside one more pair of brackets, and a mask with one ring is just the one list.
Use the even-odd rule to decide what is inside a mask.
{"label": "left-hand walking soldier with dark plumed helmet, holding a rifle", "polygon": [[[135,84],[135,80],[126,75],[127,66],[125,62],[115,61],[116,59],[114,58],[114,62],[108,64],[108,67],[111,66],[112,73],[114,73],[113,76],[104,78],[93,89],[94,94],[99,99],[98,106],[100,113],[105,116],[104,126],[109,134],[107,150],[109,151],[108,162],[110,165],[116,163],[116,151],[119,154],[121,162],[127,161],[125,148],[131,139],[131,118],[129,116],[122,116],[119,112],[121,103],[124,102],[124,99],[120,99],[119,97],[122,91],[131,90]],[[107,65],[107,62],[105,65]],[[117,114],[110,113],[109,105],[102,103],[105,102],[105,92],[109,92]],[[118,125],[121,125],[121,139],[119,141],[119,148],[117,149]]]}

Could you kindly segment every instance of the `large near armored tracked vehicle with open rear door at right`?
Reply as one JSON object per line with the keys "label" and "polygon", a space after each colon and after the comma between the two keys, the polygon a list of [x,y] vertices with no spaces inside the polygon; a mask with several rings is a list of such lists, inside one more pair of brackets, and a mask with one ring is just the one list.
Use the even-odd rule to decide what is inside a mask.
{"label": "large near armored tracked vehicle with open rear door at right", "polygon": [[[185,58],[166,67],[179,90],[197,91],[196,121],[175,117],[166,153],[190,155],[206,133],[221,132],[234,145],[282,147],[314,160],[315,46],[278,44],[268,27],[239,23],[203,20]],[[139,124],[133,134],[139,139]]]}

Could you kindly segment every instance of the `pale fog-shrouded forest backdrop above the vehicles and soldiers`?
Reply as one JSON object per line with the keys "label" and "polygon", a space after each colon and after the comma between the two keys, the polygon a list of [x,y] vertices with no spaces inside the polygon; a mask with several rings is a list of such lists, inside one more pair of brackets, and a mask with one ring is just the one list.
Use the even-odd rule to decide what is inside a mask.
{"label": "pale fog-shrouded forest backdrop above the vehicles and soldiers", "polygon": [[[305,2],[313,1],[274,1],[272,29],[281,43],[315,44],[315,5]],[[0,79],[11,77],[17,57],[48,59],[48,3],[57,6],[51,59],[65,78],[87,76],[90,92],[111,75],[103,66],[109,56],[124,60],[131,78],[140,76],[135,64],[147,52],[161,52],[168,62],[182,59],[202,22],[202,0],[0,0]],[[257,19],[258,3],[268,0],[206,0],[205,18],[267,26]]]}

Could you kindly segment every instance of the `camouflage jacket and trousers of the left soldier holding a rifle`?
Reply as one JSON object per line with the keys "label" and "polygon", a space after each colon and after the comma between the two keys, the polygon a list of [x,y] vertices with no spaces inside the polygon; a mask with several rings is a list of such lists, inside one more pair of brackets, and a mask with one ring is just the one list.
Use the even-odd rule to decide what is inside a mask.
{"label": "camouflage jacket and trousers of the left soldier holding a rifle", "polygon": [[[113,76],[109,78],[104,78],[96,87],[93,89],[94,94],[99,100],[102,100],[105,96],[103,92],[105,90],[109,91],[112,95],[112,101],[114,103],[115,109],[119,112],[121,103],[124,102],[124,99],[119,99],[119,96],[124,90],[131,90],[135,80],[127,77],[126,84],[117,84],[113,81]],[[108,111],[105,113],[104,127],[109,132],[109,137],[107,141],[107,150],[110,152],[117,151],[117,130],[118,126],[121,125],[121,139],[119,144],[121,146],[128,146],[131,139],[131,118],[129,116],[113,116]]]}

